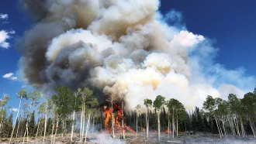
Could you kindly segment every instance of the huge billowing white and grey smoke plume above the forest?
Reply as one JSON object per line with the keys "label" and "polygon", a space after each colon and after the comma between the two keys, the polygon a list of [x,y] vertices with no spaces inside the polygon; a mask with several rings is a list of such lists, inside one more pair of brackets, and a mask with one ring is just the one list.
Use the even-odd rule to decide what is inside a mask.
{"label": "huge billowing white and grey smoke plume above the forest", "polygon": [[99,99],[123,99],[126,110],[158,94],[186,106],[202,105],[207,95],[220,97],[202,74],[201,59],[189,57],[206,47],[206,39],[168,26],[158,0],[21,2],[35,25],[19,40],[20,69],[42,90],[88,86],[102,92]]}

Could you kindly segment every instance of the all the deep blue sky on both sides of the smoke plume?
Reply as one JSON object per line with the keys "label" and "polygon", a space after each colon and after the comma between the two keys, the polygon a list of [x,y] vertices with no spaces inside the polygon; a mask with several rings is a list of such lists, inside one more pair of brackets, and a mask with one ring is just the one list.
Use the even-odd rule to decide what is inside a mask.
{"label": "all the deep blue sky on both sides of the smoke plume", "polygon": [[[182,12],[186,28],[195,34],[213,39],[219,49],[216,62],[228,69],[244,67],[245,75],[256,74],[256,1],[178,1],[162,0],[160,11],[165,14],[174,9]],[[22,36],[31,25],[28,15],[22,12],[18,1],[2,0],[0,13],[8,18],[0,19],[0,30],[9,33],[8,48],[0,48],[0,94],[11,95],[10,104],[17,107],[16,92],[24,86],[18,77],[20,54],[15,39]],[[15,33],[13,33],[15,31]],[[13,73],[13,74],[9,74]],[[9,78],[4,78],[9,74]],[[8,75],[5,75],[8,77]],[[13,80],[12,80],[13,79]],[[1,96],[2,97],[2,96]]]}

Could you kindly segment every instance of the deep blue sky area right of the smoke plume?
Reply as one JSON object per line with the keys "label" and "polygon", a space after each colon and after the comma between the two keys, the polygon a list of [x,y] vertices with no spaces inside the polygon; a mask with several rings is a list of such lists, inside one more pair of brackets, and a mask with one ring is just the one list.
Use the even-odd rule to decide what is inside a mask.
{"label": "deep blue sky area right of the smoke plume", "polygon": [[219,48],[216,62],[229,69],[244,67],[256,74],[256,1],[162,0],[161,12],[182,12],[192,33],[214,39]]}

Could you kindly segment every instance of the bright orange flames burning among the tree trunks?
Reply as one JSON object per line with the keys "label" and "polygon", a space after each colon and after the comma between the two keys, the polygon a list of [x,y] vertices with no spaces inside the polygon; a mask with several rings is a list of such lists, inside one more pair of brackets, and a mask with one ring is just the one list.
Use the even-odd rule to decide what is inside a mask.
{"label": "bright orange flames burning among the tree trunks", "polygon": [[130,128],[130,126],[126,124],[123,124],[123,129],[122,129],[123,109],[120,105],[117,105],[117,102],[113,103],[113,108],[111,107],[107,108],[106,106],[103,107],[103,111],[104,111],[103,115],[105,118],[104,125],[105,125],[106,132],[112,132],[112,123],[113,123],[114,130],[117,132],[122,132],[123,129],[125,131],[135,132],[132,128]]}

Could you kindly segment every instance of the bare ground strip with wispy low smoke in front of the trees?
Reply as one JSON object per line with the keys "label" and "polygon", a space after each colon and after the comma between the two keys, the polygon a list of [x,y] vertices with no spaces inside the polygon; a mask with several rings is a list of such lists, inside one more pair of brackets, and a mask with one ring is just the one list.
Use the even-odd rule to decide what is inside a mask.
{"label": "bare ground strip with wispy low smoke in front of the trees", "polygon": [[[74,135],[74,141],[70,142],[70,135],[65,135],[63,138],[61,135],[57,135],[56,143],[79,143],[79,135]],[[43,143],[43,137],[38,139],[29,138],[29,143]],[[26,141],[25,141],[26,142]],[[0,139],[0,143],[9,143],[9,139]],[[22,143],[22,138],[13,139],[12,143]],[[50,136],[47,136],[45,143],[50,143]],[[121,139],[121,134],[116,134],[116,139],[112,139],[112,135],[109,133],[95,133],[89,134],[87,143],[89,144],[154,144],[154,143],[196,143],[196,144],[253,144],[256,143],[256,139],[252,135],[245,138],[229,135],[228,138],[220,139],[219,135],[213,135],[209,133],[195,133],[193,135],[181,133],[174,139],[171,135],[161,133],[161,140],[158,141],[157,132],[150,132],[149,139],[145,138],[145,133],[140,132],[136,137],[136,133],[126,133],[126,139]]]}

